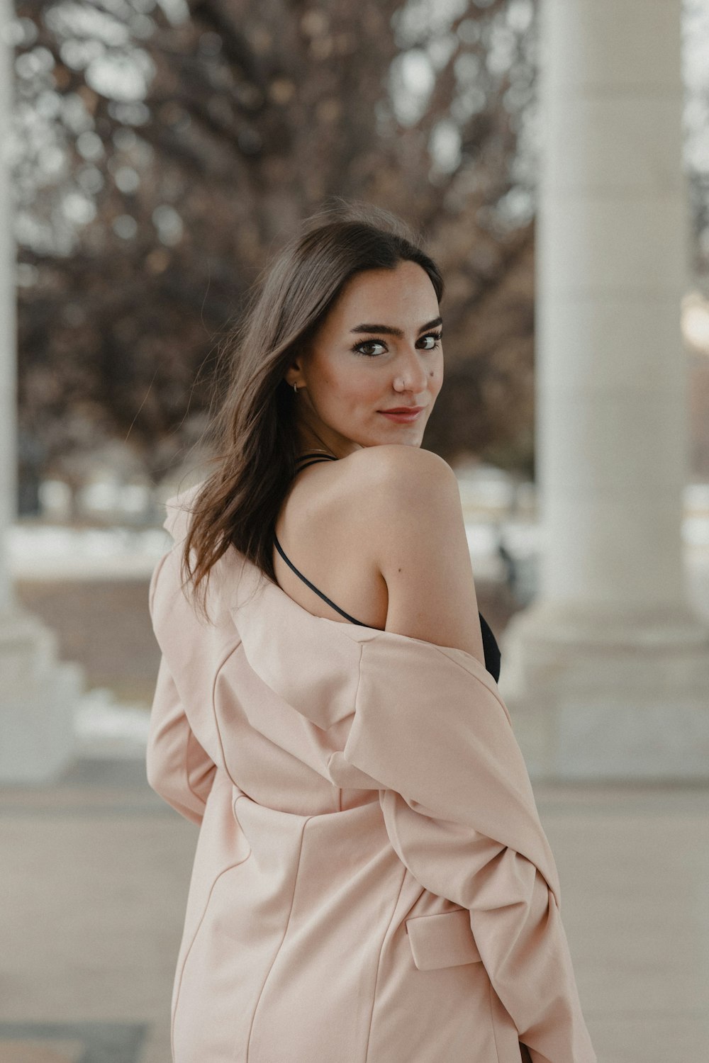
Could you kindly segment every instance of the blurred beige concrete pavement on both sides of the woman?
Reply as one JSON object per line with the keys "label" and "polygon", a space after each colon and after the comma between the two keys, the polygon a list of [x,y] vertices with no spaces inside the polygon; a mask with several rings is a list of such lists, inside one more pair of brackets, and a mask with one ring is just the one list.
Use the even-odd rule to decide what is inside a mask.
{"label": "blurred beige concrete pavement on both sides of the woman", "polygon": [[[709,788],[546,784],[536,795],[600,1061],[703,1063]],[[197,829],[132,760],[4,789],[0,809],[1,1063],[169,1063]]]}

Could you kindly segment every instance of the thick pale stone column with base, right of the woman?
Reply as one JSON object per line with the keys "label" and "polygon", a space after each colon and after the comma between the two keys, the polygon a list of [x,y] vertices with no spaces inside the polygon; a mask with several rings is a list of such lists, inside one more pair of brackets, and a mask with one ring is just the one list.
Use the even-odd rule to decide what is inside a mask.
{"label": "thick pale stone column with base, right of the woman", "polygon": [[502,640],[533,778],[708,778],[688,605],[680,0],[543,0],[539,592]]}

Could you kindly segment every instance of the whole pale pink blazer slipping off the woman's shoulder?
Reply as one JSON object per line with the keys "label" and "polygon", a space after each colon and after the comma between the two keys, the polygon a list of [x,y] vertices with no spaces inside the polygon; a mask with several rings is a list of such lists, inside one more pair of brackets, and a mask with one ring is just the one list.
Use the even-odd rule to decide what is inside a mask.
{"label": "whole pale pink blazer slipping off the woman's shoulder", "polygon": [[213,625],[150,609],[151,786],[201,824],[174,1063],[595,1063],[497,686],[460,649],[314,617],[230,547]]}

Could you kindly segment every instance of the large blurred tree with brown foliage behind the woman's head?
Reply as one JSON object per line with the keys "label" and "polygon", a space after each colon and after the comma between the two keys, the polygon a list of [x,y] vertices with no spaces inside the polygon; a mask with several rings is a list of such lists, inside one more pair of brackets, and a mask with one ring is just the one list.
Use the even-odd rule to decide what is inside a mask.
{"label": "large blurred tree with brown foliage behind the woman's head", "polygon": [[443,267],[426,445],[531,474],[534,0],[16,15],[20,424],[45,468],[80,478],[118,437],[158,480],[203,426],[249,286],[341,196],[402,215]]}

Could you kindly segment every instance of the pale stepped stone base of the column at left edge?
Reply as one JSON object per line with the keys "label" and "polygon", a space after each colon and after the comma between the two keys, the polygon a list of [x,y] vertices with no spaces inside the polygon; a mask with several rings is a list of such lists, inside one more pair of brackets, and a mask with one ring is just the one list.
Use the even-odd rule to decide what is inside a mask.
{"label": "pale stepped stone base of the column at left edge", "polygon": [[24,612],[0,617],[0,782],[49,782],[71,762],[81,669]]}

